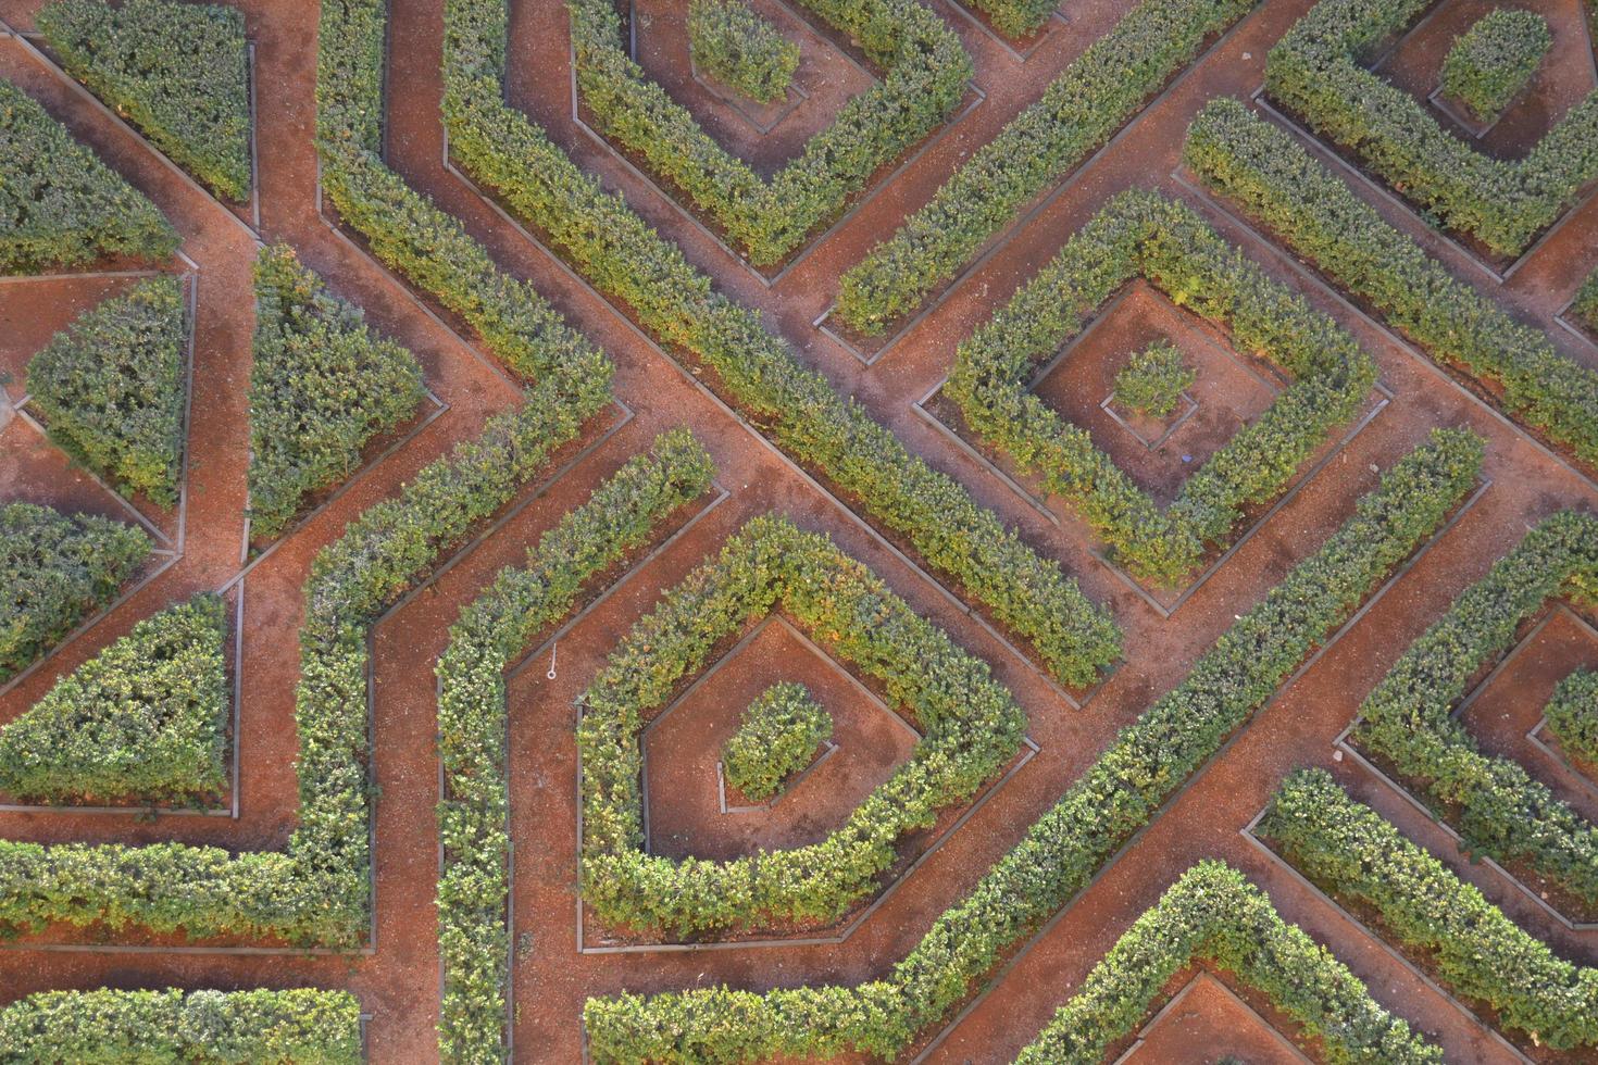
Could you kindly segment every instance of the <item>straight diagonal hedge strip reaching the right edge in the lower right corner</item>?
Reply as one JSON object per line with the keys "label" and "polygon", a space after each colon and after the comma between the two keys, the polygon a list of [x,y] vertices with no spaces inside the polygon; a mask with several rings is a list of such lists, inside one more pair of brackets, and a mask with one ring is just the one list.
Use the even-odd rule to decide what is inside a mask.
{"label": "straight diagonal hedge strip reaching the right edge in the lower right corner", "polygon": [[1259,832],[1328,893],[1374,910],[1384,934],[1486,1001],[1499,1027],[1555,1049],[1598,1046],[1598,969],[1555,956],[1331,774],[1290,776]]}

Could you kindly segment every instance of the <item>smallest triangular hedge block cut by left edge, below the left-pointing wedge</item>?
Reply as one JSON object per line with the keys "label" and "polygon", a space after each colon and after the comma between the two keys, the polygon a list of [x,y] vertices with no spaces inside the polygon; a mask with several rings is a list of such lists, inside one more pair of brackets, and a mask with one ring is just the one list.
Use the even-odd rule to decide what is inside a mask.
{"label": "smallest triangular hedge block cut by left edge, below the left-pointing wedge", "polygon": [[0,506],[0,682],[117,597],[153,548],[133,525],[48,506]]}

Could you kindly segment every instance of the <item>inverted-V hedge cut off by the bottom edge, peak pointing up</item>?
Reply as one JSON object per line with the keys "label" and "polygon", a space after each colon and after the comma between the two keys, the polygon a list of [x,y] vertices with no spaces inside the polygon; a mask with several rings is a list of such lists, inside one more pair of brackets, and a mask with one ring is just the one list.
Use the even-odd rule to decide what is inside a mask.
{"label": "inverted-V hedge cut off by the bottom edge, peak pointing up", "polygon": [[1377,1004],[1365,984],[1264,891],[1224,862],[1200,862],[1115,940],[1016,1065],[1096,1065],[1131,1035],[1178,972],[1205,960],[1270,1000],[1338,1062],[1441,1062],[1441,1049]]}

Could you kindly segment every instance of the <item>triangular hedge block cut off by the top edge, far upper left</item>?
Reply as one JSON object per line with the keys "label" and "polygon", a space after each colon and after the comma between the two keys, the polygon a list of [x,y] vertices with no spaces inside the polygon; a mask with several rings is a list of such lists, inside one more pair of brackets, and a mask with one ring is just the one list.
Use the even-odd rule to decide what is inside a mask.
{"label": "triangular hedge block cut off by the top edge, far upper left", "polygon": [[249,198],[244,13],[179,0],[54,0],[38,32],[72,77],[224,200]]}

